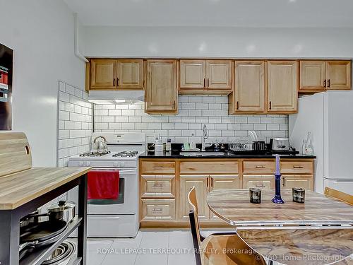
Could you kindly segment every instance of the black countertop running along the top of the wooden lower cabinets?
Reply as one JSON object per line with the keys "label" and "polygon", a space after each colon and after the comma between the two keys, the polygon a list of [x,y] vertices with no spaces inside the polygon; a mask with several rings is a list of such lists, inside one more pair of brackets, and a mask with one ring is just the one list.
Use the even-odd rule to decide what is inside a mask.
{"label": "black countertop running along the top of the wooden lower cabinets", "polygon": [[[179,159],[195,159],[195,158],[275,158],[275,155],[244,155],[244,154],[225,154],[225,155],[181,155],[179,151],[172,151],[172,152],[163,152],[163,153],[143,153],[138,158],[179,158]],[[185,152],[186,153],[186,152]],[[280,158],[285,159],[313,159],[316,156],[309,156],[309,155],[280,155]]]}

